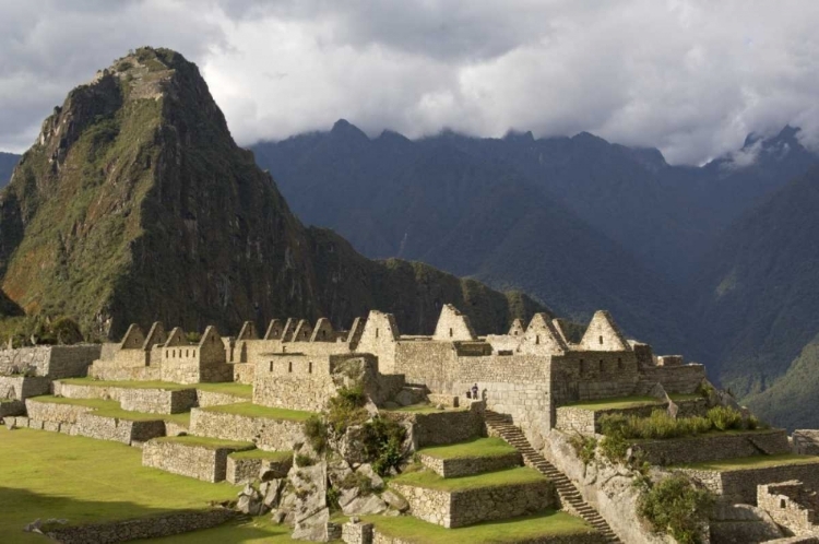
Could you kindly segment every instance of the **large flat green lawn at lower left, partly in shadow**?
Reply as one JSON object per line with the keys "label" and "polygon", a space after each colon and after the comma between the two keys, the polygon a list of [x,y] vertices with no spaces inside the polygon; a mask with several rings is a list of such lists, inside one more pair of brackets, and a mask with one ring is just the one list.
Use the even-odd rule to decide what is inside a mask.
{"label": "large flat green lawn at lower left, partly in shadow", "polygon": [[142,466],[122,444],[0,427],[0,542],[47,543],[22,532],[37,518],[95,523],[206,508],[237,487]]}

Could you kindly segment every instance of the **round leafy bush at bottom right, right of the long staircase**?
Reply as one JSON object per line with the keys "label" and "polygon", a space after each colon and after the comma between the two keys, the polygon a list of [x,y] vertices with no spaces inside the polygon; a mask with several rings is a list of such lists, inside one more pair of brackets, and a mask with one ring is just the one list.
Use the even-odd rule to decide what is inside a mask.
{"label": "round leafy bush at bottom right, right of the long staircase", "polygon": [[713,495],[696,487],[684,474],[675,474],[645,486],[637,504],[638,513],[657,533],[668,533],[680,544],[698,542],[699,525],[709,517]]}

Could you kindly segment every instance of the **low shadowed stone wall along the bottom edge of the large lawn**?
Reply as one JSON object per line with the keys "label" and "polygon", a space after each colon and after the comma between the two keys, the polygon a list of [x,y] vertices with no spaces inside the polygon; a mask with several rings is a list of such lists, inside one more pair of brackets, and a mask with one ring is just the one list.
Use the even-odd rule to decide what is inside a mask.
{"label": "low shadowed stone wall along the bottom edge of the large lawn", "polygon": [[185,511],[151,516],[134,520],[112,521],[80,527],[63,527],[47,531],[47,535],[63,544],[114,544],[141,539],[158,539],[221,525],[236,518],[226,508]]}

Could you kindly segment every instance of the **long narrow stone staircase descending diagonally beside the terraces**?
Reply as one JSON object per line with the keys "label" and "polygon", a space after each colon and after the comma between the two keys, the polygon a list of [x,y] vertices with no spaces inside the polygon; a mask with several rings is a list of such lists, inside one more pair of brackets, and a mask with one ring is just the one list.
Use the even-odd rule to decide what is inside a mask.
{"label": "long narrow stone staircase descending diagonally beside the terraces", "polygon": [[486,411],[485,418],[489,430],[518,449],[523,456],[523,461],[526,465],[538,470],[551,480],[563,505],[570,506],[574,512],[594,527],[594,529],[603,534],[606,542],[612,544],[622,542],[600,512],[583,500],[583,496],[574,484],[572,484],[571,480],[529,444],[529,440],[520,428],[511,424],[506,416],[489,410]]}

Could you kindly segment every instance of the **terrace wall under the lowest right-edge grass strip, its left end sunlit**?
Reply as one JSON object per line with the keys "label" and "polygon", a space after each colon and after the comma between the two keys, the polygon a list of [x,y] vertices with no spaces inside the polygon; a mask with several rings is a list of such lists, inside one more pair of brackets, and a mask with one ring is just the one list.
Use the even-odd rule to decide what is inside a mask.
{"label": "terrace wall under the lowest right-edge grass strip, its left end sunlit", "polygon": [[758,485],[787,482],[788,480],[798,480],[806,487],[819,489],[819,463],[782,464],[723,472],[703,469],[680,470],[701,482],[725,502],[756,505]]}

